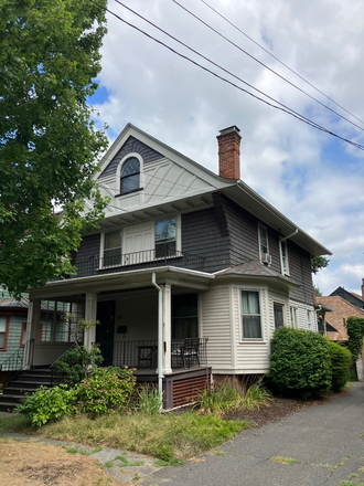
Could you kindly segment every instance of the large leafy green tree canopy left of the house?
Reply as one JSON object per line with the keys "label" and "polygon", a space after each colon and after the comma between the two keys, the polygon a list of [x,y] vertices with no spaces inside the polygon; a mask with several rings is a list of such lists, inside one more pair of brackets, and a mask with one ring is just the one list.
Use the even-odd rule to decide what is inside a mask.
{"label": "large leafy green tree canopy left of the house", "polygon": [[89,0],[0,0],[0,285],[15,296],[72,272],[103,215],[92,175],[107,141],[87,97],[105,32]]}

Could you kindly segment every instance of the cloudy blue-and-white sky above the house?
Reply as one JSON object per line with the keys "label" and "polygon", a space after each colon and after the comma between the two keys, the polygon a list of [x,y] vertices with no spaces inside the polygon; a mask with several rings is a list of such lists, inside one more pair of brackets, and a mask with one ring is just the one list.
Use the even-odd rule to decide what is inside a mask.
{"label": "cloudy blue-and-white sky above the house", "polygon": [[[168,38],[116,0],[109,0],[108,8],[237,86],[277,106],[236,77],[325,129],[364,145],[364,123],[360,122],[364,120],[362,0],[351,0],[350,4],[342,0],[205,1],[245,35],[202,0],[179,3],[236,46],[173,0],[122,3],[232,74]],[[99,87],[90,104],[99,113],[97,124],[108,126],[110,142],[131,123],[217,173],[216,136],[236,125],[242,135],[242,180],[333,253],[328,268],[313,277],[314,284],[323,295],[338,286],[361,294],[364,150],[221,81],[111,14],[107,19]]]}

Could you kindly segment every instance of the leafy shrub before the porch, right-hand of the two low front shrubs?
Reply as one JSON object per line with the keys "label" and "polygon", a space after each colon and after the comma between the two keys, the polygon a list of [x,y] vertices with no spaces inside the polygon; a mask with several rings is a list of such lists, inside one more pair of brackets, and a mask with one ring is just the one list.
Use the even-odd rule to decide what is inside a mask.
{"label": "leafy shrub before the porch, right-hand of the two low front shrubs", "polygon": [[113,413],[129,402],[133,387],[131,370],[96,368],[89,378],[75,387],[75,412],[92,416]]}

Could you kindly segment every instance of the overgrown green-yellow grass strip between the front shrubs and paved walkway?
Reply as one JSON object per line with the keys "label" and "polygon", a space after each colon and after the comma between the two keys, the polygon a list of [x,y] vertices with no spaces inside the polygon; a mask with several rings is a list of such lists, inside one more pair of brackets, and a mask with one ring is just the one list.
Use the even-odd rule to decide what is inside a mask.
{"label": "overgrown green-yellow grass strip between the front shrubs and paved walkway", "polygon": [[223,421],[193,412],[175,414],[114,414],[90,420],[84,415],[64,418],[40,429],[31,429],[19,415],[0,420],[1,431],[72,441],[90,447],[114,447],[152,455],[165,463],[186,459],[233,439],[246,421]]}

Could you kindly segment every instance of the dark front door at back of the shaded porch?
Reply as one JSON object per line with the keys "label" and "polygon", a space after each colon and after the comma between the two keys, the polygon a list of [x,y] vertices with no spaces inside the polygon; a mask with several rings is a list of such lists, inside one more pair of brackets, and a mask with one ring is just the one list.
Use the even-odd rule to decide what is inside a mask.
{"label": "dark front door at back of the shaded porch", "polygon": [[103,366],[113,366],[114,328],[115,328],[115,300],[97,303],[96,341],[100,345],[104,358]]}

